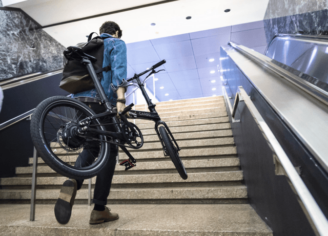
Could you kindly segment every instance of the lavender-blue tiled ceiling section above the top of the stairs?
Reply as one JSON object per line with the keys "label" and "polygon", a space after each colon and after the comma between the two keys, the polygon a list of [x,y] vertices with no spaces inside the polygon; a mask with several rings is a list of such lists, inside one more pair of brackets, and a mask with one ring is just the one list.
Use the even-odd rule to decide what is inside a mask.
{"label": "lavender-blue tiled ceiling section above the top of the stairs", "polygon": [[[264,53],[267,39],[263,21],[127,44],[128,78],[166,59],[158,68],[165,71],[155,75],[159,101],[222,95],[218,64],[220,46],[228,41]],[[153,92],[152,79],[148,80],[147,88]]]}

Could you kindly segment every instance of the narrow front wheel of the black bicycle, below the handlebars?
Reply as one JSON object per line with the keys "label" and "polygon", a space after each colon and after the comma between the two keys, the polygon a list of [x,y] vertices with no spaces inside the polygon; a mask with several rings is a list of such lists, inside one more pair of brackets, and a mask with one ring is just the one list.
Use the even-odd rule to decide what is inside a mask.
{"label": "narrow front wheel of the black bicycle, below the handlebars", "polygon": [[183,166],[183,163],[179,157],[178,149],[174,145],[171,137],[168,135],[168,132],[166,131],[164,126],[160,126],[158,128],[160,136],[162,137],[162,141],[165,145],[164,152],[167,156],[170,156],[175,168],[177,169],[179,175],[182,179],[186,180],[188,178],[187,171],[185,169],[185,166]]}

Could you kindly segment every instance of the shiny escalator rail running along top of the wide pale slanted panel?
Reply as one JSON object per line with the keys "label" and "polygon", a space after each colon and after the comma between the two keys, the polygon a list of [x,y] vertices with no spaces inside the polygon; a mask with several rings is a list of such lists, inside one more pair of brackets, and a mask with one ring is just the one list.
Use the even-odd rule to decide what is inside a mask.
{"label": "shiny escalator rail running along top of the wide pale slanted panel", "polygon": [[[281,68],[280,66],[276,65],[276,63],[273,63],[273,61],[275,61],[274,59],[271,59],[261,53],[255,52],[254,50],[251,50],[242,45],[238,45],[235,42],[230,41],[228,42],[228,44],[231,45],[236,50],[238,50],[243,55],[259,63],[261,66],[280,75],[281,77],[285,78],[289,82],[295,84],[298,88],[302,89],[304,92],[310,94],[311,96],[315,97],[316,99],[328,105],[328,92],[316,87],[314,84],[304,79],[301,79],[299,76],[293,74],[289,70],[286,70],[286,69],[290,69],[291,71],[295,71],[295,69],[286,65],[284,65],[284,68]],[[302,72],[299,73],[300,75],[303,74]]]}

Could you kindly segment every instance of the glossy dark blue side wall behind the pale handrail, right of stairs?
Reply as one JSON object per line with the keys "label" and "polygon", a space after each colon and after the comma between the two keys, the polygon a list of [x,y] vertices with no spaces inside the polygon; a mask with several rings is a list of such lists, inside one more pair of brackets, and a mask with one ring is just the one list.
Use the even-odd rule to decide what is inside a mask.
{"label": "glossy dark blue side wall behind the pale handrail, right of stairs", "polygon": [[[238,86],[242,86],[251,96],[256,108],[294,166],[301,167],[302,180],[327,217],[328,202],[326,196],[328,196],[328,189],[326,186],[328,186],[328,177],[326,171],[257,92],[253,84],[222,48],[220,60],[223,78],[227,80],[226,90],[231,90],[232,94],[236,94]],[[234,99],[235,96],[232,96],[232,99],[227,102],[233,104]],[[228,112],[230,113],[230,111]],[[288,179],[284,176],[274,175],[275,167],[272,152],[246,106],[244,108],[240,106],[237,109],[235,118],[241,120],[240,123],[231,122],[231,125],[244,173],[245,185],[248,187],[249,201],[253,208],[273,229],[275,235],[314,235],[294,192],[288,184]]]}

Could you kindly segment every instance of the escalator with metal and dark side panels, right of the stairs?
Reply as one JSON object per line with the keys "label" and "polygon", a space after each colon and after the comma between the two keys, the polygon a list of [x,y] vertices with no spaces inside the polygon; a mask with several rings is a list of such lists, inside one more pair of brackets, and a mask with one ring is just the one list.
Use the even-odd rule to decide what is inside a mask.
{"label": "escalator with metal and dark side panels, right of the stairs", "polygon": [[234,42],[221,47],[249,201],[274,235],[328,233],[327,46],[326,37],[276,35],[267,56]]}

